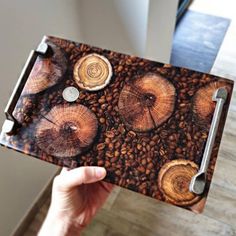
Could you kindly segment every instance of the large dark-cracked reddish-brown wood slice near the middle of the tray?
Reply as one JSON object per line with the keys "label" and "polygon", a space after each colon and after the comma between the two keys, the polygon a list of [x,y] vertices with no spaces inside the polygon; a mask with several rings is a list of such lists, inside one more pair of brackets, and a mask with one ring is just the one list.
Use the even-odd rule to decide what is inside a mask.
{"label": "large dark-cracked reddish-brown wood slice near the middle of the tray", "polygon": [[158,74],[147,74],[127,83],[118,108],[124,123],[138,132],[147,132],[165,122],[174,110],[175,87]]}

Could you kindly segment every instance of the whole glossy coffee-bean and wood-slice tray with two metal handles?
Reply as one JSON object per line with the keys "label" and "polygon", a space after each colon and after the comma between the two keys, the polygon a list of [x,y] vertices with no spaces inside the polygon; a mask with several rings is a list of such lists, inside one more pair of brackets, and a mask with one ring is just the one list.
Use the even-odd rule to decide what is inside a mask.
{"label": "whole glossy coffee-bean and wood-slice tray with two metal handles", "polygon": [[[190,60],[190,59],[188,59]],[[233,82],[44,37],[5,109],[0,142],[201,212]]]}

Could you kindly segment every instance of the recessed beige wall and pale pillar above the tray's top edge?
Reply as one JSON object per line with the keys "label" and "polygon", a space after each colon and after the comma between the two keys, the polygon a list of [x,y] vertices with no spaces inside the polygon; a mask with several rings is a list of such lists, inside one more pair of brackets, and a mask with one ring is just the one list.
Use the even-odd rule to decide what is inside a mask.
{"label": "recessed beige wall and pale pillar above the tray's top edge", "polygon": [[82,40],[169,63],[178,0],[79,0]]}

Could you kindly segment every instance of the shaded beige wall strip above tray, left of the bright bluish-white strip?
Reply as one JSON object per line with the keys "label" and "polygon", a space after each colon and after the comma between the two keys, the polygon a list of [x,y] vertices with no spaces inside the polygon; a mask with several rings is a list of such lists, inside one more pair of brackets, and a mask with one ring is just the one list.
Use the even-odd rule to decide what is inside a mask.
{"label": "shaded beige wall strip above tray, left of the bright bluish-white strip", "polygon": [[115,0],[79,0],[82,41],[120,52],[133,52],[114,3]]}

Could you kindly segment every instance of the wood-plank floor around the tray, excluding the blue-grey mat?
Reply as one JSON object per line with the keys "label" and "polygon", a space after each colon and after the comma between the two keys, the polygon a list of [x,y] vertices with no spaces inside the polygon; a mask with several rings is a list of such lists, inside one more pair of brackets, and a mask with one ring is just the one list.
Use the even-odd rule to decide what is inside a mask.
{"label": "wood-plank floor around the tray, excluding the blue-grey mat", "polygon": [[[195,0],[191,10],[225,17],[231,24],[211,73],[236,82],[236,15],[234,0]],[[219,10],[221,9],[221,11]],[[225,13],[226,12],[226,13]],[[36,235],[50,203],[48,198],[24,235]],[[216,170],[202,214],[157,202],[140,194],[115,188],[83,236],[235,236],[236,235],[236,86],[226,121]]]}

